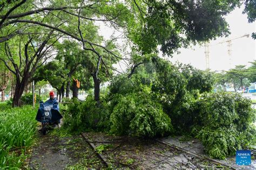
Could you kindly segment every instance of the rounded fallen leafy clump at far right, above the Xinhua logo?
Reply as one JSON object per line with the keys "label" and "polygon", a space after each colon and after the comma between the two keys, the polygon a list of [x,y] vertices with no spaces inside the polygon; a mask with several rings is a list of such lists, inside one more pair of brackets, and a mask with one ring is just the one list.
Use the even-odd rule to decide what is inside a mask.
{"label": "rounded fallen leafy clump at far right, above the Xinhua logo", "polygon": [[201,128],[197,137],[213,158],[224,159],[241,148],[255,144],[255,119],[251,101],[240,94],[210,93],[197,103]]}

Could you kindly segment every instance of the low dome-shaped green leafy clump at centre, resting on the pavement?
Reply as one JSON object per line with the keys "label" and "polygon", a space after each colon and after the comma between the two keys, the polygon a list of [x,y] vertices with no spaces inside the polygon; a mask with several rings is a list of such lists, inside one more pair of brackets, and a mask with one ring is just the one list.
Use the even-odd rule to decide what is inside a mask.
{"label": "low dome-shaped green leafy clump at centre, resting on the pavement", "polygon": [[117,95],[110,116],[111,132],[137,137],[163,136],[172,131],[171,119],[149,94]]}

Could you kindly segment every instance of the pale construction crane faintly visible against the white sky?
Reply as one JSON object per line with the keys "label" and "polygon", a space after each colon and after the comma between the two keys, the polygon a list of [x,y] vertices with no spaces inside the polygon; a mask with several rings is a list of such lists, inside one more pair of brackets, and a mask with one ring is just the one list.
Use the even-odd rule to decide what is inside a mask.
{"label": "pale construction crane faintly visible against the white sky", "polygon": [[210,51],[209,51],[209,46],[215,46],[215,45],[219,45],[219,44],[223,44],[225,42],[227,42],[227,55],[229,57],[230,60],[230,68],[231,68],[231,56],[232,56],[232,41],[235,39],[239,39],[239,38],[243,38],[243,37],[250,37],[250,34],[245,34],[244,36],[240,36],[240,37],[236,37],[233,39],[228,39],[226,41],[222,41],[219,42],[218,44],[214,44],[214,45],[209,45],[209,43],[205,43],[205,60],[206,60],[206,69],[210,69]]}

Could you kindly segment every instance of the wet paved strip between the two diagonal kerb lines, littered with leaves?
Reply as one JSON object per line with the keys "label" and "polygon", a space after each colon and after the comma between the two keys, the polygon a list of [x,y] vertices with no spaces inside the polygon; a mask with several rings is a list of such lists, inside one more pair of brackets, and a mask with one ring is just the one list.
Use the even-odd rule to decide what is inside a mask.
{"label": "wet paved strip between the two diagonal kerb lines, littered with leaves", "polygon": [[83,136],[95,145],[96,150],[105,148],[100,154],[112,168],[229,168],[153,139],[113,137],[104,133],[83,133]]}

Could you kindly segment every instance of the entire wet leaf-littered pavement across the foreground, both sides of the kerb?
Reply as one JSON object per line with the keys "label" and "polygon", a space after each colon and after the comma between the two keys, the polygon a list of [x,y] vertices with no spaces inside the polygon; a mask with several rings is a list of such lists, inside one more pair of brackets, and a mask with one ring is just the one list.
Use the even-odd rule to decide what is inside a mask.
{"label": "entire wet leaf-littered pavement across the foreground, both sides of the kerb", "polygon": [[[39,136],[38,144],[33,147],[28,168],[256,169],[255,160],[252,160],[251,166],[238,166],[235,165],[235,157],[227,160],[210,159],[197,139],[139,139],[95,132],[82,133],[82,136]],[[104,159],[100,159],[98,154]]]}

